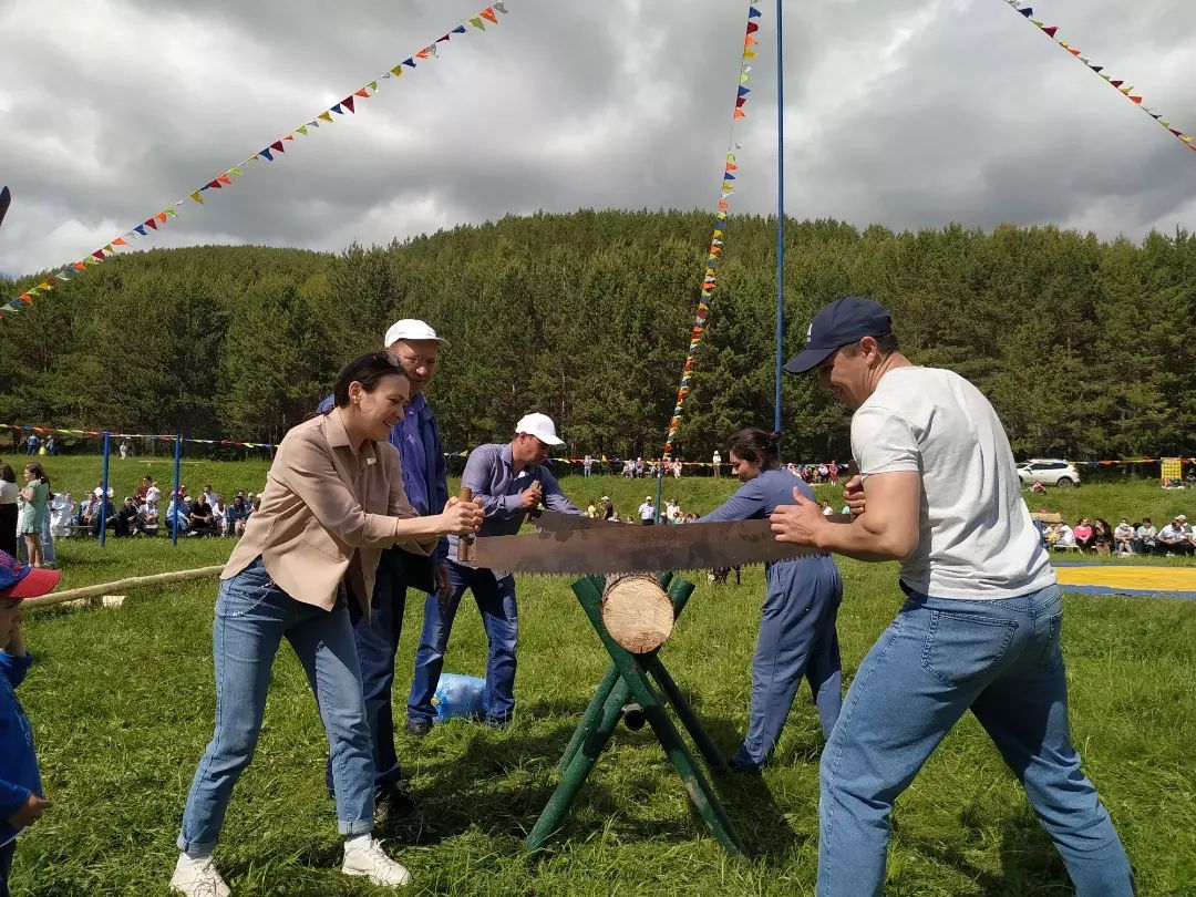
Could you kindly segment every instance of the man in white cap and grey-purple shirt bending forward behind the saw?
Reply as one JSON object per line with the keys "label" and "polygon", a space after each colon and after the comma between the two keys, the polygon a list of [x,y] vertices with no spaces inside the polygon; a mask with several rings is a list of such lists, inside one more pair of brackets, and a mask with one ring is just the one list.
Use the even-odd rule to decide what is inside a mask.
{"label": "man in white cap and grey-purple shirt bending forward behind the saw", "polygon": [[[547,414],[529,414],[515,425],[515,437],[506,445],[480,445],[469,454],[460,484],[474,490],[482,504],[482,529],[478,536],[511,536],[519,531],[524,518],[543,502],[550,511],[581,514],[561,492],[556,477],[543,466],[549,450],[563,445],[556,425]],[[474,593],[482,624],[489,640],[486,664],[486,691],[482,695],[483,721],[493,728],[506,728],[514,712],[515,642],[519,614],[515,606],[515,581],[507,570],[460,563],[457,538],[448,537],[448,600],[428,600],[423,608],[423,634],[415,654],[415,676],[407,701],[407,728],[426,734],[432,728],[435,710],[432,697],[440,682],[448,634],[465,590]]]}

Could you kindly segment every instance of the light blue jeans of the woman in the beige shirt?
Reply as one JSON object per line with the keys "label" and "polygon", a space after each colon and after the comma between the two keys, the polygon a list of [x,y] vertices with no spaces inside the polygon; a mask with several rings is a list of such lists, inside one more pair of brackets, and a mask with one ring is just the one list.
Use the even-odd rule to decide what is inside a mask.
{"label": "light blue jeans of the woman in the beige shirt", "polygon": [[346,602],[342,597],[331,611],[297,602],[257,559],[224,580],[216,597],[212,631],[216,724],[183,811],[178,849],[189,856],[207,856],[219,840],[232,788],[257,746],[270,667],[283,637],[299,655],[324,720],[340,831],[373,830],[370,727]]}

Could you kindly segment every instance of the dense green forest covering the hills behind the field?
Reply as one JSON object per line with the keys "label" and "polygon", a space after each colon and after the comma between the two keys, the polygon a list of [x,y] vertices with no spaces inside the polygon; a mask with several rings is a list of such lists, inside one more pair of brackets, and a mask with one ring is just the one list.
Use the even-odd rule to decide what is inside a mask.
{"label": "dense green forest covering the hills behind the field", "polygon": [[[657,457],[709,238],[701,212],[582,210],[340,255],[132,254],[4,316],[0,422],[277,441],[342,362],[420,317],[452,342],[429,393],[447,448],[506,439],[538,409],[570,452]],[[683,458],[771,427],[775,264],[775,219],[732,218]],[[1196,445],[1196,237],[787,222],[785,276],[788,349],[822,304],[871,295],[915,362],[993,399],[1019,454]],[[808,378],[786,377],[782,404],[786,457],[849,454],[848,414]]]}

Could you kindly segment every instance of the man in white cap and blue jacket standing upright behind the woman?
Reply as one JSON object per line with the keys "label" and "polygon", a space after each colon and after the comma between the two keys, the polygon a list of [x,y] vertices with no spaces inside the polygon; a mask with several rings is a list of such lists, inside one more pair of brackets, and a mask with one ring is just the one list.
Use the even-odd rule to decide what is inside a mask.
{"label": "man in white cap and blue jacket standing upright behind the woman", "polygon": [[[423,391],[432,383],[441,348],[448,341],[422,321],[396,321],[386,331],[386,352],[407,372],[411,404],[407,415],[390,431],[390,443],[398,448],[407,500],[420,514],[437,514],[448,501],[448,472],[445,466],[440,429]],[[319,410],[331,408],[331,397]],[[395,654],[403,631],[407,590],[427,593],[427,606],[437,606],[448,594],[445,559],[448,543],[440,539],[431,557],[413,555],[401,548],[386,549],[378,561],[370,617],[354,621],[366,719],[373,742],[377,774],[374,800],[391,817],[410,814],[415,805],[403,786],[403,773],[395,753]],[[331,791],[331,769],[329,768]]]}

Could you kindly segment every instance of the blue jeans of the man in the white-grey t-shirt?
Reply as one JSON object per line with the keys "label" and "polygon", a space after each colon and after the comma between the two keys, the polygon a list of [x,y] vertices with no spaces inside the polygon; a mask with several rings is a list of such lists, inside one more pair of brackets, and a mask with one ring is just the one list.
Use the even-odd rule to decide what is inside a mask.
{"label": "blue jeans of the man in the white-grey t-shirt", "polygon": [[1058,587],[911,593],[872,646],[822,757],[820,897],[879,895],[893,801],[971,710],[1026,789],[1080,897],[1131,895],[1129,860],[1067,721]]}

